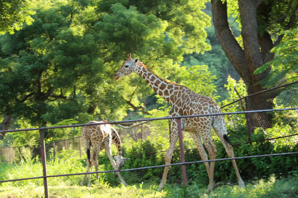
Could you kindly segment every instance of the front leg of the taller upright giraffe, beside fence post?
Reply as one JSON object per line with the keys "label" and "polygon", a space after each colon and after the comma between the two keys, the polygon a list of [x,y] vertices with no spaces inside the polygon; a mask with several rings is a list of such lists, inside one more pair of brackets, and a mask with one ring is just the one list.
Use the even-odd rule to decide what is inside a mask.
{"label": "front leg of the taller upright giraffe, beside fence post", "polygon": [[[170,139],[171,140],[170,146],[167,149],[166,154],[164,155],[164,161],[165,161],[166,165],[170,164],[170,161],[171,161],[173,151],[175,149],[178,137],[179,137],[179,135],[178,135],[178,125],[177,125],[177,121],[175,120],[175,121],[173,121],[173,124],[172,124],[172,133],[171,133],[171,139]],[[168,171],[169,171],[169,167],[168,166],[164,167],[164,172],[162,174],[162,181],[159,184],[159,189],[158,189],[159,191],[164,188],[164,184],[167,181]]]}

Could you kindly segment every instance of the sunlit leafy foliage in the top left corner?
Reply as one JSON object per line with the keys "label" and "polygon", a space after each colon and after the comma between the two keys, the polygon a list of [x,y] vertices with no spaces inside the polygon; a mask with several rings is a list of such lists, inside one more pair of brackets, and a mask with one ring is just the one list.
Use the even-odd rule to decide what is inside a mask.
{"label": "sunlit leafy foliage in the top left corner", "polygon": [[0,0],[0,34],[9,31],[14,34],[15,30],[20,30],[23,23],[30,25],[33,19],[30,15],[33,11],[25,9],[27,0]]}

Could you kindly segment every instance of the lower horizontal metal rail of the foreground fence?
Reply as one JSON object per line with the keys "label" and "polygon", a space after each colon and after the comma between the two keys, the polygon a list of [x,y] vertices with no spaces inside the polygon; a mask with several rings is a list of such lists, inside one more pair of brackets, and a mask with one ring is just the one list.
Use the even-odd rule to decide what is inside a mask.
{"label": "lower horizontal metal rail of the foreground fence", "polygon": [[176,164],[165,164],[165,165],[150,166],[150,167],[131,168],[131,169],[125,169],[125,170],[106,170],[106,171],[97,171],[97,172],[70,173],[70,174],[62,174],[62,175],[46,175],[46,176],[39,176],[39,177],[32,177],[32,178],[2,180],[0,181],[0,183],[11,182],[11,181],[21,181],[21,180],[31,180],[31,179],[41,179],[41,178],[63,177],[63,176],[72,176],[72,175],[88,175],[88,174],[106,173],[106,172],[125,172],[125,171],[144,170],[144,169],[160,168],[160,167],[167,167],[167,166],[179,166],[179,165],[186,165],[186,164],[204,163],[209,161],[226,161],[226,160],[232,160],[232,159],[247,159],[247,158],[255,158],[255,157],[271,157],[271,156],[293,155],[293,154],[298,154],[298,152],[275,153],[275,154],[267,154],[267,155],[233,157],[233,158],[224,158],[224,159],[211,159],[211,160],[204,160],[204,161],[190,161],[190,162],[183,162],[183,163],[176,163]]}

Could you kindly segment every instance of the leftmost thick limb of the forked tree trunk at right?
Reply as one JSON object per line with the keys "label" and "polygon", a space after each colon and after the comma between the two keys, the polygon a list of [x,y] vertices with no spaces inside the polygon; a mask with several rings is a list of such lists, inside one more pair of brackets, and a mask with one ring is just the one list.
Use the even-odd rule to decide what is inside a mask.
{"label": "leftmost thick limb of the forked tree trunk at right", "polygon": [[224,53],[240,74],[245,83],[249,83],[249,72],[245,61],[243,49],[236,41],[231,28],[229,26],[227,15],[227,3],[211,0],[212,3],[212,17],[215,27],[215,34],[221,44]]}

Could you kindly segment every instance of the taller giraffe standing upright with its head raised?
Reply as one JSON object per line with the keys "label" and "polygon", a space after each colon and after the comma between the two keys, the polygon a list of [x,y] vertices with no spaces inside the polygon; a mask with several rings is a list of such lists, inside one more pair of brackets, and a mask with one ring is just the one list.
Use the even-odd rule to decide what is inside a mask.
{"label": "taller giraffe standing upright with its head raised", "polygon": [[[133,60],[131,58],[131,54],[128,55],[127,60],[124,61],[122,67],[118,70],[118,72],[114,75],[113,78],[114,80],[119,80],[120,77],[129,75],[132,72],[137,72],[140,76],[142,76],[146,83],[151,88],[153,88],[153,90],[157,94],[159,94],[162,98],[164,98],[167,102],[170,103],[170,117],[181,115],[221,113],[221,110],[218,107],[218,105],[210,97],[199,95],[185,86],[176,83],[171,83],[167,80],[159,78],[158,76],[153,74],[153,72],[150,71],[150,69],[147,66],[139,62],[139,58]],[[170,164],[173,150],[175,148],[179,136],[177,119],[171,119],[171,121],[171,142],[164,156],[165,164]],[[222,115],[183,118],[181,119],[181,123],[182,129],[184,131],[189,132],[193,140],[195,141],[195,144],[198,147],[198,151],[202,160],[208,160],[208,156],[206,151],[204,150],[201,138],[203,139],[203,142],[208,150],[210,159],[216,158],[217,151],[211,140],[211,126],[213,127],[215,133],[218,135],[219,139],[226,148],[226,152],[229,155],[229,157],[234,157],[232,146],[228,142],[228,136],[226,135],[226,124]],[[232,160],[232,163],[237,174],[238,184],[241,187],[244,187],[244,182],[240,177],[235,160]],[[205,166],[209,177],[209,185],[207,191],[215,188],[215,183],[213,181],[214,165],[214,161],[210,162],[210,166],[208,162],[205,162]],[[164,183],[167,180],[168,170],[169,167],[164,167],[164,173],[162,175],[162,181],[159,185],[159,190],[163,189],[164,187]]]}

